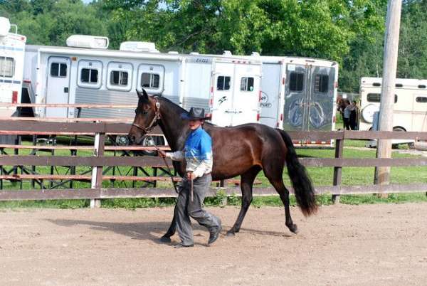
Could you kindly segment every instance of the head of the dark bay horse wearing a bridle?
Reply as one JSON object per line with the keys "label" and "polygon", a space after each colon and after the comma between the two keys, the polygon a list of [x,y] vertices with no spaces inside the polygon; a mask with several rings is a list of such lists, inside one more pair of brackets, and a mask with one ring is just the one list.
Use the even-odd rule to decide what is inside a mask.
{"label": "head of the dark bay horse wearing a bridle", "polygon": [[142,137],[150,132],[160,119],[160,103],[157,98],[147,95],[144,89],[142,92],[137,90],[137,95],[139,100],[135,120],[128,134],[131,144],[139,144]]}

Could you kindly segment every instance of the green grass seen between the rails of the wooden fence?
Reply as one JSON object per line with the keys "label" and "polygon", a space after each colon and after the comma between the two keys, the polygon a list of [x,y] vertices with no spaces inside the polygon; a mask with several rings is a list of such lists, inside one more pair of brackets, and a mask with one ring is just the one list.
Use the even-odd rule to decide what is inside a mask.
{"label": "green grass seen between the rails of the wooden fence", "polygon": [[[374,158],[376,155],[376,149],[361,149],[364,147],[367,141],[364,140],[346,140],[344,143],[344,158]],[[30,142],[23,142],[23,144],[31,144]],[[90,144],[90,142],[84,142],[84,144]],[[13,154],[13,150],[6,149],[8,154]],[[19,154],[30,154],[31,150],[20,150]],[[41,156],[49,156],[51,152],[38,152]],[[313,158],[333,158],[334,149],[297,149],[297,154],[300,157],[313,157]],[[55,155],[57,156],[69,156],[69,150],[58,150]],[[105,152],[106,156],[113,156],[113,152]],[[78,156],[93,156],[93,152],[90,150],[79,150]],[[404,157],[416,157],[411,154],[399,154],[396,150],[393,152],[392,157],[404,158]],[[6,169],[11,166],[5,166]],[[31,166],[27,166],[31,169]],[[333,179],[333,167],[309,167],[307,168],[313,183],[315,186],[332,186]],[[50,174],[50,166],[37,166],[36,171],[39,174]],[[58,166],[54,174],[67,174],[68,168]],[[78,166],[76,168],[77,174],[83,171],[90,171],[90,167]],[[150,175],[153,174],[152,170],[147,170]],[[107,174],[112,174],[112,170],[108,171]],[[132,175],[132,169],[130,167],[118,167],[115,169],[116,175]],[[88,173],[90,175],[90,172]],[[142,176],[139,172],[139,176]],[[290,179],[286,171],[283,173],[283,179],[286,185],[290,186]],[[268,179],[265,178],[263,172],[258,174],[257,180],[261,182],[257,186],[270,186]],[[350,185],[369,185],[374,180],[374,167],[343,167],[342,168],[342,184],[344,186]],[[392,167],[391,168],[391,183],[392,184],[411,184],[411,183],[427,183],[427,168],[425,166],[408,166],[408,167]],[[143,182],[136,182],[137,187],[144,186]],[[158,182],[159,187],[172,187],[169,182]],[[4,189],[19,189],[19,183],[11,183],[4,181]],[[131,182],[120,182],[115,181],[103,181],[103,187],[131,187]],[[69,184],[63,186],[63,188],[69,188]],[[88,182],[73,183],[74,188],[90,188]],[[31,182],[24,181],[23,189],[31,189]],[[317,200],[321,204],[330,204],[331,196],[318,196]],[[240,205],[241,198],[238,196],[231,196],[227,198],[228,204]],[[391,194],[389,198],[378,198],[374,195],[358,195],[358,196],[341,196],[341,203],[359,204],[359,203],[401,203],[409,201],[426,201],[425,194]],[[216,198],[206,198],[206,205],[208,206],[220,206],[223,202],[223,196],[217,196]],[[115,198],[106,199],[102,201],[102,206],[105,208],[144,208],[154,206],[170,206],[174,203],[174,198]],[[295,198],[291,198],[291,203],[295,205]],[[0,208],[82,208],[89,205],[88,200],[61,200],[61,201],[12,201],[12,202],[0,202]],[[253,200],[253,206],[282,206],[280,198],[277,196],[271,197],[256,197]]]}

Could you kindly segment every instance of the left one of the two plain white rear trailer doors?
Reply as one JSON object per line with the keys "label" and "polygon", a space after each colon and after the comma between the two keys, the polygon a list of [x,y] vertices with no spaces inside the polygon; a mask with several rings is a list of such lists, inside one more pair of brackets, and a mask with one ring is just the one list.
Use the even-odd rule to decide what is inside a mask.
{"label": "left one of the two plain white rear trailer doors", "polygon": [[212,123],[231,126],[233,118],[234,64],[216,62],[212,73],[214,86],[212,102]]}

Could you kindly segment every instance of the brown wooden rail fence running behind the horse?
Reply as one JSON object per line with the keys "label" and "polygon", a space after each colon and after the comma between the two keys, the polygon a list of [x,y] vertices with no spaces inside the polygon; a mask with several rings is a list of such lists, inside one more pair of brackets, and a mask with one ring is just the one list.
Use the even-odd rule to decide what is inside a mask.
{"label": "brown wooden rail fence running behind the horse", "polygon": [[[128,179],[139,181],[167,181],[165,176],[111,176],[103,175],[102,169],[106,166],[135,166],[164,168],[164,161],[159,157],[112,157],[105,156],[107,150],[147,150],[152,147],[114,147],[105,145],[105,137],[109,134],[127,134],[130,125],[113,122],[39,122],[39,121],[11,121],[0,120],[0,134],[8,135],[91,135],[95,137],[93,146],[76,147],[48,147],[48,149],[93,149],[92,157],[77,156],[35,156],[20,154],[1,154],[0,166],[89,166],[92,172],[89,175],[60,175],[62,179],[90,180],[90,189],[30,189],[30,190],[1,190],[0,201],[11,200],[48,200],[90,198],[93,206],[101,198],[141,198],[141,197],[174,197],[172,188],[102,188],[102,180]],[[301,158],[305,166],[334,167],[333,186],[315,186],[317,194],[331,194],[335,198],[341,194],[372,194],[372,193],[400,193],[427,191],[427,184],[391,184],[368,186],[342,186],[342,167],[345,166],[427,166],[427,158],[399,158],[399,159],[346,159],[343,158],[345,139],[415,139],[427,140],[427,132],[289,132],[294,140],[325,141],[335,140],[335,158]],[[40,146],[28,145],[0,145],[0,149],[40,149]],[[163,147],[167,149],[167,147]],[[172,166],[172,162],[169,161]],[[2,168],[1,168],[2,169]],[[60,179],[57,175],[46,174],[0,174],[0,179],[28,180],[28,179]],[[179,178],[175,178],[179,180]],[[236,181],[236,180],[234,180]],[[241,191],[236,186],[211,188],[211,196],[221,190],[223,194],[239,196]],[[292,191],[292,189],[290,189]],[[273,187],[255,187],[254,196],[271,196],[276,192]]]}

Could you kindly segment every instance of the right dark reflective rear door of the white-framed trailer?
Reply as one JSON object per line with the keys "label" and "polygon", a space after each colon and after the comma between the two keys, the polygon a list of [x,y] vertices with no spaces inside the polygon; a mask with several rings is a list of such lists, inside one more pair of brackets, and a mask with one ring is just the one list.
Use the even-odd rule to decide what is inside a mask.
{"label": "right dark reflective rear door of the white-framed trailer", "polygon": [[334,113],[335,68],[310,68],[310,92],[307,94],[307,130],[332,130]]}

